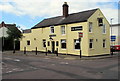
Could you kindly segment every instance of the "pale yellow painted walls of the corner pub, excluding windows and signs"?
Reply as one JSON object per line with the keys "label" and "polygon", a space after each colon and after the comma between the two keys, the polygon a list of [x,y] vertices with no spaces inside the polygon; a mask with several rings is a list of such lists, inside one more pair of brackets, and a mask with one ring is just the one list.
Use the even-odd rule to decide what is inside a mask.
{"label": "pale yellow painted walls of the corner pub, excluding windows and signs", "polygon": [[[102,34],[102,27],[98,27],[97,24],[98,17],[104,18],[103,14],[99,9],[88,19],[88,22],[54,26],[55,33],[53,35],[56,35],[56,37],[52,37],[53,38],[52,41],[55,41],[55,50],[56,48],[58,48],[59,53],[80,55],[80,51],[74,49],[74,39],[78,39],[78,32],[83,32],[83,38],[81,41],[81,49],[83,56],[109,54],[110,53],[109,23],[104,18],[104,23],[107,25],[106,26],[107,33]],[[93,22],[93,33],[89,33],[88,31],[89,22]],[[66,29],[65,35],[61,34],[61,26],[65,26]],[[71,31],[71,27],[75,27],[75,26],[83,26],[83,30]],[[48,41],[50,41],[49,35],[52,35],[50,33],[50,27],[32,29],[31,33],[24,33],[23,36],[25,36],[25,38],[21,40],[21,47],[20,47],[21,51],[23,51],[24,47],[27,48],[27,51],[35,50],[35,47],[38,48],[38,51],[45,51],[46,48],[43,47],[42,40],[46,39],[46,46],[47,46]],[[34,38],[36,38],[36,40],[34,40]],[[89,48],[89,39],[91,38],[94,39],[93,49]],[[61,39],[66,39],[67,42],[66,49],[61,49]],[[96,39],[98,41],[96,41]],[[103,39],[107,40],[106,48],[102,47]],[[27,40],[31,41],[31,45],[27,45]],[[58,47],[56,46],[56,41],[59,41]],[[47,46],[47,50],[51,50],[51,43],[50,46]]]}

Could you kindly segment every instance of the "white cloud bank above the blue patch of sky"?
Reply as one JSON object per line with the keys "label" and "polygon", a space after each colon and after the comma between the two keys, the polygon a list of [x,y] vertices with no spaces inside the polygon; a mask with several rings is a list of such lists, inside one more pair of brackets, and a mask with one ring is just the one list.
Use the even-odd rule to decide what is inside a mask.
{"label": "white cloud bank above the blue patch of sky", "polygon": [[113,9],[113,5],[98,5],[98,2],[117,2],[117,0],[4,0],[0,3],[0,11],[17,16],[29,15],[31,18],[47,18],[62,15],[61,5],[65,1],[69,4],[70,13],[100,8],[108,21],[112,17],[114,18],[113,23],[118,22],[118,12],[117,9]]}

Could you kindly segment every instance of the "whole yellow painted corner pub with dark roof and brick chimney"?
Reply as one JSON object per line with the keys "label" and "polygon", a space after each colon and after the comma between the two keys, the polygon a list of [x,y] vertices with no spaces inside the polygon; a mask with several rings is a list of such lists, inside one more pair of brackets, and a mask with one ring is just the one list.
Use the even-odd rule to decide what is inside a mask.
{"label": "whole yellow painted corner pub with dark roof and brick chimney", "polygon": [[[68,14],[63,4],[63,15],[44,19],[23,33],[20,50],[55,52],[60,54],[95,56],[110,54],[110,26],[100,9]],[[83,33],[81,43],[79,32]],[[81,46],[81,47],[80,47]]]}

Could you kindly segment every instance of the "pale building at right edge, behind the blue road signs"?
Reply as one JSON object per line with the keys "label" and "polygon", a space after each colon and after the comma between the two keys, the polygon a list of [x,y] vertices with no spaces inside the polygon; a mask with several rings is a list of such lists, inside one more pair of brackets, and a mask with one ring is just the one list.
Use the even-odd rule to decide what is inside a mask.
{"label": "pale building at right edge, behind the blue road signs", "polygon": [[111,41],[111,45],[120,45],[120,24],[112,24],[110,26],[110,36],[115,36],[115,40]]}

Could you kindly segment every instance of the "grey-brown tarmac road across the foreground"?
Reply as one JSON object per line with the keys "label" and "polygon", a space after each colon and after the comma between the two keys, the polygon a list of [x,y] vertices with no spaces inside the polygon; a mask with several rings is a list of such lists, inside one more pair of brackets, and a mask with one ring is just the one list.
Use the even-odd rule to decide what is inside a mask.
{"label": "grey-brown tarmac road across the foreground", "polygon": [[3,79],[118,79],[118,57],[75,60],[3,55]]}

